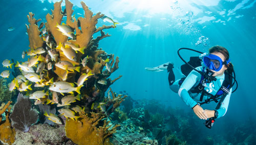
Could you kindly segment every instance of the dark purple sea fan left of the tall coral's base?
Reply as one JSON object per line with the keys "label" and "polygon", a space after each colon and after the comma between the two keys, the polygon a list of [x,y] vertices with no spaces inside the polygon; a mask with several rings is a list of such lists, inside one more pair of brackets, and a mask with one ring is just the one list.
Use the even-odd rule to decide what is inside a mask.
{"label": "dark purple sea fan left of the tall coral's base", "polygon": [[28,132],[29,127],[37,123],[38,113],[31,108],[29,98],[26,98],[23,94],[19,93],[10,118],[12,120],[12,126],[15,129]]}

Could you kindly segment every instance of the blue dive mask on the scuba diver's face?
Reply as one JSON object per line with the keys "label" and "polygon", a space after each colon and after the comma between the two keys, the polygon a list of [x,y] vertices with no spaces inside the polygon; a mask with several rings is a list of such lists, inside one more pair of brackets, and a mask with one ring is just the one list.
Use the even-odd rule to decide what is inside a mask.
{"label": "blue dive mask on the scuba diver's face", "polygon": [[209,69],[214,71],[220,71],[223,65],[230,62],[230,59],[222,61],[220,57],[209,54],[208,56],[203,57],[203,62],[204,65],[207,66]]}

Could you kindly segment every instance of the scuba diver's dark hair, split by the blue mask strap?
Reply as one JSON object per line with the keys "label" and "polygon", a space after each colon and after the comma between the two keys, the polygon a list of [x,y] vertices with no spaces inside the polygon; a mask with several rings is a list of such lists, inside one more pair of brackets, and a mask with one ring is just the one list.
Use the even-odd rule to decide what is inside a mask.
{"label": "scuba diver's dark hair, split by the blue mask strap", "polygon": [[[219,52],[219,53],[223,54],[226,60],[229,59],[229,53],[228,53],[227,49],[225,49],[225,47],[222,47],[219,45],[213,46],[209,49],[209,53],[214,53],[214,52]],[[232,72],[234,71],[233,64],[231,62],[229,62],[228,64],[225,64],[225,65],[227,67],[227,69],[225,71],[228,74],[232,74]]]}

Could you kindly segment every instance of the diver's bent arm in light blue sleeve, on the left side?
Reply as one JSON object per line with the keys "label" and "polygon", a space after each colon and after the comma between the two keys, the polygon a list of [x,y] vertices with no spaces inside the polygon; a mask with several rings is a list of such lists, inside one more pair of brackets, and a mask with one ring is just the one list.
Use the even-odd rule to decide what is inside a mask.
{"label": "diver's bent arm in light blue sleeve, on the left side", "polygon": [[[197,67],[196,69],[200,69],[200,68]],[[201,79],[201,74],[199,74],[195,70],[192,70],[189,73],[189,75],[186,77],[182,85],[180,86],[180,89],[178,92],[182,101],[184,101],[185,104],[188,105],[190,108],[195,107],[197,105],[197,102],[190,97],[187,91],[191,89],[199,79]]]}

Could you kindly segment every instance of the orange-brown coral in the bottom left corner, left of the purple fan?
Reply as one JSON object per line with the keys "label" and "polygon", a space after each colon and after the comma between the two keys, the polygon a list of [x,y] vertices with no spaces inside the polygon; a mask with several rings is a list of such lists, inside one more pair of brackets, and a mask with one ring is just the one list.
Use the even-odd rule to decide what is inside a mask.
{"label": "orange-brown coral in the bottom left corner, left of the purple fan", "polygon": [[[11,127],[9,114],[11,107],[10,104],[12,102],[8,102],[1,110],[0,110],[0,140],[6,144],[12,144],[15,139],[15,130]],[[6,111],[8,109],[8,111]],[[6,120],[2,120],[2,114],[5,112]]]}

